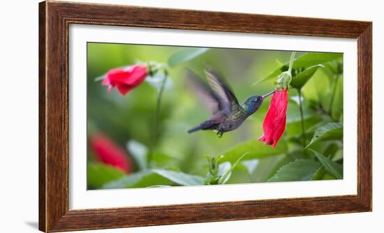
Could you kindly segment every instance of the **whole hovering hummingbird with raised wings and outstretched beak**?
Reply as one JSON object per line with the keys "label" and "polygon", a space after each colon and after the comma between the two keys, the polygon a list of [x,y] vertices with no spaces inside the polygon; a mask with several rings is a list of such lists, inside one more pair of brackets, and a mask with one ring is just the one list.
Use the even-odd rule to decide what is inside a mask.
{"label": "whole hovering hummingbird with raised wings and outstretched beak", "polygon": [[263,100],[274,93],[270,91],[263,96],[249,96],[244,103],[239,103],[229,85],[212,67],[205,69],[209,87],[189,69],[186,70],[186,76],[202,103],[212,112],[212,117],[191,128],[188,133],[198,130],[215,130],[217,136],[222,137],[223,133],[241,126],[245,119],[259,109]]}

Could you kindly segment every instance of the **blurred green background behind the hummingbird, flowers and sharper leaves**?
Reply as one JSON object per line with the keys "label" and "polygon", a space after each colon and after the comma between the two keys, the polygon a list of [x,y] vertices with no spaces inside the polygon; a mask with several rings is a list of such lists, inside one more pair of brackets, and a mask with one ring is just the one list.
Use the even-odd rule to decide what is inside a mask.
{"label": "blurred green background behind the hummingbird, flowers and sharper leaves", "polygon": [[[300,117],[300,105],[297,101],[298,93],[295,88],[289,90],[287,127],[276,149],[272,149],[271,146],[264,145],[257,140],[263,135],[263,120],[270,98],[265,100],[260,110],[249,117],[242,126],[237,130],[224,133],[221,138],[218,138],[216,133],[210,130],[198,131],[193,134],[187,133],[190,128],[208,119],[210,112],[200,104],[193,89],[188,87],[186,77],[184,77],[185,68],[190,68],[198,73],[202,80],[207,82],[204,75],[204,64],[211,63],[224,75],[239,102],[243,102],[248,96],[262,95],[274,89],[272,82],[276,81],[277,75],[265,82],[253,84],[268,77],[276,69],[277,74],[281,73],[279,70],[282,71],[284,69],[283,64],[290,59],[290,51],[210,48],[207,52],[189,61],[170,67],[170,86],[163,92],[156,140],[153,138],[153,133],[158,91],[149,82],[143,82],[126,96],[121,96],[116,89],[108,92],[107,87],[102,86],[101,82],[95,81],[96,77],[104,75],[112,68],[129,66],[138,61],[156,61],[167,64],[172,54],[183,49],[185,48],[157,45],[88,43],[88,137],[96,133],[103,133],[121,146],[128,156],[132,157],[133,174],[140,173],[147,168],[154,168],[200,176],[205,179],[209,166],[205,156],[224,155],[226,158],[220,163],[229,161],[233,165],[235,160],[242,156],[240,152],[251,151],[249,156],[244,157],[241,163],[234,167],[227,183],[269,181],[276,176],[276,172],[279,170],[281,172],[281,169],[284,170],[284,165],[306,160],[311,160],[313,163],[299,166],[297,168],[298,173],[305,172],[300,170],[303,167],[313,165],[313,169],[309,172],[312,175],[309,177],[306,173],[310,179],[337,178],[332,172],[328,172],[327,166],[321,163],[321,159],[311,151],[303,149],[302,119]],[[302,57],[306,54],[305,52],[297,52],[296,57]],[[311,54],[316,55],[316,53]],[[323,59],[322,56],[326,57],[327,54],[318,53],[318,57],[315,56],[318,60],[314,63],[319,63],[324,67],[316,68],[308,78],[308,82],[301,88],[303,123],[306,129],[305,144],[307,145],[313,140],[318,128],[326,126],[327,123],[341,124],[341,137],[339,134],[332,135],[331,132],[330,137],[311,145],[311,149],[323,154],[323,157],[327,159],[326,161],[329,160],[332,165],[336,163],[335,166],[341,167],[342,54],[337,54],[332,59]],[[298,74],[311,67],[309,65],[313,66],[313,62],[306,64],[304,62],[305,66],[297,67],[295,72]],[[140,146],[145,146],[147,151],[151,146],[153,147],[153,158],[149,165],[140,166],[140,158],[133,156],[136,153],[135,149],[130,149],[130,146],[127,146],[128,142],[132,141],[137,142]],[[111,176],[113,178],[106,179],[101,183],[98,179],[102,179],[101,176],[109,177],[109,174],[97,167],[100,162],[95,159],[95,151],[92,146],[88,146],[87,158],[89,163],[88,188],[90,189],[183,185],[183,183],[170,179],[170,177],[166,177],[168,178],[167,181],[151,182],[151,179],[156,179],[155,176],[151,176],[152,178],[146,184],[135,183],[131,181],[131,178],[126,178],[131,174]],[[314,164],[315,162],[317,164]],[[297,165],[300,164],[297,163]],[[293,166],[293,168],[295,167]],[[280,179],[278,177],[279,179],[276,181],[310,180],[307,176],[305,179],[300,176],[295,176],[292,179]],[[126,180],[124,181],[124,179]],[[142,181],[143,178],[140,176],[138,180]],[[108,186],[108,183],[112,183],[112,185]],[[113,185],[113,183],[115,184]]]}

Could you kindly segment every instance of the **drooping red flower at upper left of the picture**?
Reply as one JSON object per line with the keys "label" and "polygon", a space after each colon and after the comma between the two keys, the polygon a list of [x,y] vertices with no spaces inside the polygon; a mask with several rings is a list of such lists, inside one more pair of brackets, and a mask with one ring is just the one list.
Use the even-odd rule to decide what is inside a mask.
{"label": "drooping red flower at upper left of the picture", "polygon": [[140,85],[145,77],[147,77],[147,67],[133,65],[108,71],[101,84],[108,86],[108,91],[116,87],[121,95],[125,96],[126,93]]}

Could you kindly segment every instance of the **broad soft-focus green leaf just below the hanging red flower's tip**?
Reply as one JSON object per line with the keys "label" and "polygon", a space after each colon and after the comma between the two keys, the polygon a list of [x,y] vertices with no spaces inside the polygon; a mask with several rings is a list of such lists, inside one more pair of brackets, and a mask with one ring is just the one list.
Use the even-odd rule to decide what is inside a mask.
{"label": "broad soft-focus green leaf just below the hanging red flower's tip", "polygon": [[233,146],[231,149],[223,153],[221,162],[229,161],[235,163],[244,153],[247,153],[244,160],[252,158],[264,158],[267,156],[276,156],[287,151],[287,144],[284,140],[280,140],[275,148],[272,146],[265,146],[263,142],[260,142],[258,138],[239,143]]}

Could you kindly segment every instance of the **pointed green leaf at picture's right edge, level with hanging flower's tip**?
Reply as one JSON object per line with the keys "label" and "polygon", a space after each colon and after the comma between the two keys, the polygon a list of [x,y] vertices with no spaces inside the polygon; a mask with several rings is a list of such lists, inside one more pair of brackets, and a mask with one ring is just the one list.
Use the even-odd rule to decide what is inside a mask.
{"label": "pointed green leaf at picture's right edge, level with hanging flower's tip", "polygon": [[305,149],[321,140],[337,140],[341,138],[343,138],[343,124],[327,123],[325,126],[321,126],[315,131],[311,142],[309,142]]}

